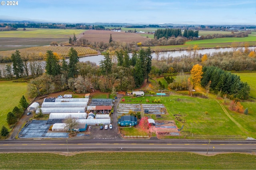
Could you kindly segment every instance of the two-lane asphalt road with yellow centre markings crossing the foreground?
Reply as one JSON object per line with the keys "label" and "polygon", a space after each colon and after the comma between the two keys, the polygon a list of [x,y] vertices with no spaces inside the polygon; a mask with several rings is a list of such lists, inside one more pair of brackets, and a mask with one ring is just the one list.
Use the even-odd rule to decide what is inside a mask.
{"label": "two-lane asphalt road with yellow centre markings crossing the foreground", "polygon": [[88,152],[88,151],[165,151],[165,152],[256,152],[256,141],[102,141],[102,140],[11,140],[0,141],[0,152]]}

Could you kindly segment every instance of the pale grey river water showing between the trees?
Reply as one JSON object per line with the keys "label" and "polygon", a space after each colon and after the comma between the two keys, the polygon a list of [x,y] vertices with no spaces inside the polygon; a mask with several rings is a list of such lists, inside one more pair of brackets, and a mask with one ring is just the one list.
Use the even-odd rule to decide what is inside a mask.
{"label": "pale grey river water showing between the trees", "polygon": [[[249,47],[250,50],[254,50],[255,47]],[[209,53],[214,53],[214,52],[226,52],[226,51],[233,51],[233,48],[219,48],[219,49],[200,49],[198,50],[198,54],[209,54]],[[132,56],[132,53],[129,53],[130,57]],[[156,53],[151,54],[153,58],[156,58]],[[188,51],[166,51],[166,52],[160,52],[159,53],[159,59],[161,57],[178,57],[182,55],[188,55]],[[85,61],[91,61],[99,65],[100,61],[104,59],[104,55],[93,55],[93,56],[87,56],[87,57],[80,57],[79,61],[80,62],[85,62]],[[67,59],[68,61],[68,59]],[[6,64],[12,65],[12,63],[0,63],[0,69],[4,68]]]}

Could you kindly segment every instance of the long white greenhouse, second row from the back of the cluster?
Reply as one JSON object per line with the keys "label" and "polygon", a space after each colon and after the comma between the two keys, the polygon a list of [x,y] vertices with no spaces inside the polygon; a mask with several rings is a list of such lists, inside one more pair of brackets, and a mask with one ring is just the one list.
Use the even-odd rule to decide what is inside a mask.
{"label": "long white greenhouse, second row from the back of the cluster", "polygon": [[86,107],[87,102],[43,102],[44,107]]}

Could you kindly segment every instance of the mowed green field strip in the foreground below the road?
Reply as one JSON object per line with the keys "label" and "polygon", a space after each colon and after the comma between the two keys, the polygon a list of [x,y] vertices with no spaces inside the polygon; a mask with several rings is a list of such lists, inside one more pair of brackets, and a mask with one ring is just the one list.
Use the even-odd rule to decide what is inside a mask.
{"label": "mowed green field strip in the foreground below the road", "polygon": [[0,169],[255,169],[256,155],[184,152],[0,154]]}

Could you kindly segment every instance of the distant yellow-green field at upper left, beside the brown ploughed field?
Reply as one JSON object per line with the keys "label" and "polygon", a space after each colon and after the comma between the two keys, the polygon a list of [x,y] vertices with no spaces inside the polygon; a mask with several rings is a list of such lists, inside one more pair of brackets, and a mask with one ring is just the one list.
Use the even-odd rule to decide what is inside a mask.
{"label": "distant yellow-green field at upper left, beside the brown ploughed field", "polygon": [[69,38],[84,32],[84,29],[26,28],[26,31],[0,31],[0,38]]}

